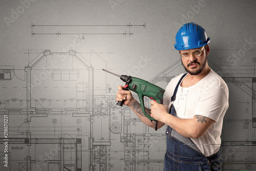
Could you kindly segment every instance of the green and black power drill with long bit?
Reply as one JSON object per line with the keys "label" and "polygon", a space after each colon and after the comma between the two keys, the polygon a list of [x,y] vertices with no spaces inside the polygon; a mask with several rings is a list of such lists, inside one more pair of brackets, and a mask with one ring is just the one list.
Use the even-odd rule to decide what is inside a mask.
{"label": "green and black power drill with long bit", "polygon": [[[108,70],[104,70],[104,69],[102,69],[102,70],[105,72],[108,72],[110,74],[113,74],[115,76],[120,77],[120,79],[125,82],[125,86],[123,87],[123,90],[131,90],[138,94],[143,114],[148,119],[150,119],[152,123],[155,124],[155,130],[157,131],[157,120],[154,119],[153,117],[150,117],[147,115],[147,113],[145,111],[145,105],[144,105],[143,98],[144,98],[144,96],[146,96],[160,104],[163,104],[163,94],[164,94],[165,90],[156,86],[155,84],[147,82],[143,79],[139,79],[139,78],[131,77],[131,76],[127,76],[127,75],[120,76],[120,75],[117,75]],[[123,101],[118,101],[117,105],[122,106]]]}

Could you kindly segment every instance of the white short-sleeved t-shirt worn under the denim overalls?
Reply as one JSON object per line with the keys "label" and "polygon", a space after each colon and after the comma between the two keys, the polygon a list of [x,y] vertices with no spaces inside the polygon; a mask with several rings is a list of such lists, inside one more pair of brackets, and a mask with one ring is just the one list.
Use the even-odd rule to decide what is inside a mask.
{"label": "white short-sleeved t-shirt worn under the denim overalls", "polygon": [[[182,75],[173,78],[165,89],[163,103],[168,106],[168,111],[170,98]],[[190,119],[194,115],[202,115],[216,121],[202,137],[190,139],[206,157],[217,153],[221,146],[223,117],[228,109],[228,87],[225,81],[210,70],[194,86],[179,86],[174,107],[179,118]]]}

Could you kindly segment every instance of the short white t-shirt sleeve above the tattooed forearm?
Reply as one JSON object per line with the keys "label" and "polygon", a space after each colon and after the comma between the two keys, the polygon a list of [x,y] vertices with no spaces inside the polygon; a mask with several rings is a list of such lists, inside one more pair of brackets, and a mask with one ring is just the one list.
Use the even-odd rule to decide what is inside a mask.
{"label": "short white t-shirt sleeve above the tattooed forearm", "polygon": [[213,86],[205,90],[198,102],[195,115],[202,115],[218,122],[228,106],[228,97],[224,89]]}

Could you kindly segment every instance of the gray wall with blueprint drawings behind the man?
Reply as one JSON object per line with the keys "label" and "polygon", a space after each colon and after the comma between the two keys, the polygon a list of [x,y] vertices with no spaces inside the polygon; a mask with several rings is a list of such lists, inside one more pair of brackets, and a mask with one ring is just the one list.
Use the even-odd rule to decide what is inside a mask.
{"label": "gray wall with blueprint drawings behind the man", "polygon": [[164,128],[148,129],[117,106],[117,85],[124,83],[101,69],[165,88],[184,73],[174,43],[187,22],[207,31],[209,65],[229,88],[223,168],[256,170],[255,6],[252,0],[2,0],[1,170],[162,170]]}

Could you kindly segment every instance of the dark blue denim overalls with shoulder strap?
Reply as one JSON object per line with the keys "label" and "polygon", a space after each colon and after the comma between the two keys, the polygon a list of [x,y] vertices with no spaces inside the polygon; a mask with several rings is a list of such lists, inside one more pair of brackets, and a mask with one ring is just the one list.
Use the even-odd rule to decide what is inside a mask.
{"label": "dark blue denim overalls with shoulder strap", "polygon": [[[186,74],[184,74],[179,80],[171,99],[172,105],[170,107],[169,114],[174,116],[176,116],[176,111],[173,101],[176,98],[179,84],[185,75]],[[163,171],[222,170],[220,151],[212,156],[205,157],[190,138],[183,137],[173,130],[172,127],[167,126],[165,134],[167,149],[164,156]]]}

